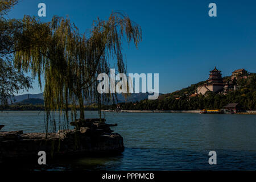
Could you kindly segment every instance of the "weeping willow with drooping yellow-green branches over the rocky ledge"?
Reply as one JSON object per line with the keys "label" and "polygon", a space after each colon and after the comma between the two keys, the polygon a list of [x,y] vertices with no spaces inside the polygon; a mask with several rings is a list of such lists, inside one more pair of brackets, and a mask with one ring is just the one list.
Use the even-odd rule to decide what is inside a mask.
{"label": "weeping willow with drooping yellow-green branches over the rocky ledge", "polygon": [[40,86],[41,76],[44,77],[47,132],[51,111],[64,110],[68,125],[69,117],[72,121],[77,119],[77,105],[80,118],[85,118],[85,101],[96,101],[99,105],[102,101],[113,101],[112,95],[97,92],[97,75],[109,74],[110,60],[116,60],[119,73],[126,73],[123,41],[138,47],[141,40],[141,27],[120,13],[112,13],[108,20],[97,19],[84,34],[69,19],[53,17],[51,22],[41,23],[25,16],[20,38],[14,44],[15,65],[20,71],[37,76]]}

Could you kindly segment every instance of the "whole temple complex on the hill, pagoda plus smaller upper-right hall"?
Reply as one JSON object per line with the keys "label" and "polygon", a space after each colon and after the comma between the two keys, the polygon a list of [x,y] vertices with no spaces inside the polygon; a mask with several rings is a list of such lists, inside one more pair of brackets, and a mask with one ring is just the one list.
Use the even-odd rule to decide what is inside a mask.
{"label": "whole temple complex on the hill, pagoda plus smaller upper-right hall", "polygon": [[190,97],[195,97],[198,94],[205,94],[208,91],[214,93],[222,93],[226,94],[229,90],[236,90],[236,79],[238,76],[243,78],[247,78],[247,71],[245,69],[237,69],[232,72],[231,80],[223,81],[221,76],[221,71],[219,71],[216,67],[210,71],[210,76],[207,82],[203,85],[197,87],[197,90]]}

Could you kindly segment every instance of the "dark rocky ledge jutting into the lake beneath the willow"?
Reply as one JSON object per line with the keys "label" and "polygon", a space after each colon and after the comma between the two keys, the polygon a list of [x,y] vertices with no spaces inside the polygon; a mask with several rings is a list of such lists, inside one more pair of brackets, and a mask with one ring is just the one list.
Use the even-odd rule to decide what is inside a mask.
{"label": "dark rocky ledge jutting into the lake beneath the willow", "polygon": [[[0,163],[15,159],[39,158],[38,152],[45,151],[47,158],[74,158],[87,155],[121,154],[123,138],[112,133],[105,121],[81,121],[82,126],[58,133],[26,133],[22,131],[0,131]],[[37,162],[37,160],[36,160]]]}

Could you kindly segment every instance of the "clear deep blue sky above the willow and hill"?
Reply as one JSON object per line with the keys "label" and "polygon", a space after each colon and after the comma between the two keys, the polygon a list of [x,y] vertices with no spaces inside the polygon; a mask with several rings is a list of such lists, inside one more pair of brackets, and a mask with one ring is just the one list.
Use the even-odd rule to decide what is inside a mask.
{"label": "clear deep blue sky above the willow and hill", "polygon": [[[256,72],[256,1],[67,1],[23,0],[9,14],[38,16],[38,3],[47,6],[47,21],[66,16],[85,31],[97,17],[123,11],[142,27],[136,49],[125,46],[128,73],[159,73],[159,92],[169,93],[206,80],[216,66],[223,76],[245,68]],[[208,5],[217,5],[217,17]],[[40,93],[35,81],[29,93]]]}

